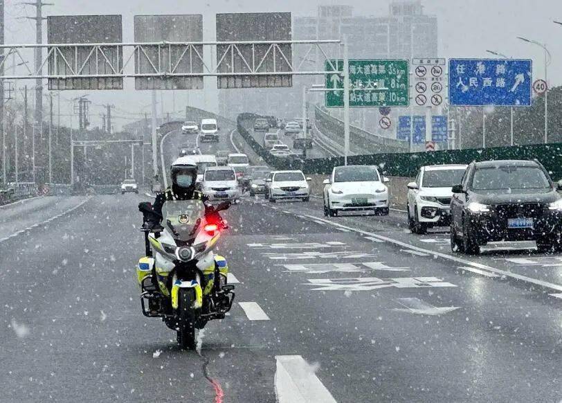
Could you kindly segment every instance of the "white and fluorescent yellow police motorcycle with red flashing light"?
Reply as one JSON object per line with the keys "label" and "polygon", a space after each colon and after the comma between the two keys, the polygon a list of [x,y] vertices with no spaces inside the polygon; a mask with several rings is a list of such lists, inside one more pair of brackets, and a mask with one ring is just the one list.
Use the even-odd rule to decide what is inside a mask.
{"label": "white and fluorescent yellow police motorcycle with red flashing light", "polygon": [[226,259],[212,251],[226,225],[208,222],[201,200],[167,200],[161,218],[161,227],[141,229],[146,249],[136,269],[141,307],[145,316],[161,317],[176,331],[181,348],[193,350],[195,330],[224,319],[233,305]]}

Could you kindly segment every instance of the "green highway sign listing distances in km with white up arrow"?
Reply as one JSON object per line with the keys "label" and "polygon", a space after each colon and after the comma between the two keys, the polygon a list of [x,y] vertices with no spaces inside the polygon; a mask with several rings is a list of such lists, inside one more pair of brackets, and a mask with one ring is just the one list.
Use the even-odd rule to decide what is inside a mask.
{"label": "green highway sign listing distances in km with white up arrow", "polygon": [[[408,60],[350,60],[350,107],[407,107]],[[326,60],[325,71],[343,71],[343,60]],[[343,78],[326,75],[326,107],[343,107]],[[377,89],[379,88],[379,89]],[[361,91],[354,91],[361,89]]]}

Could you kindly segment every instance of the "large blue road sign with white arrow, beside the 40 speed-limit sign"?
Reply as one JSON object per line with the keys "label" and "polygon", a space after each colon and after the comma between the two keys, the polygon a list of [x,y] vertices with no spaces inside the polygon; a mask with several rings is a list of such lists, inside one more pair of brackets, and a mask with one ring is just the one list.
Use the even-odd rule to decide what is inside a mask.
{"label": "large blue road sign with white arrow, beside the 40 speed-limit sign", "polygon": [[518,59],[450,59],[450,105],[531,106],[532,61]]}

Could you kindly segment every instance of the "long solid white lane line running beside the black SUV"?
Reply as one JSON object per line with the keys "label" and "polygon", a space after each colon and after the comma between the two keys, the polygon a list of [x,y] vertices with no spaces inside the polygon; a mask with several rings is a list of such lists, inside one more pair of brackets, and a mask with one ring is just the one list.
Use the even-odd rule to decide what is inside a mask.
{"label": "long solid white lane line running beside the black SUV", "polygon": [[[318,220],[322,220],[318,217],[314,217],[314,215],[309,215],[308,217],[318,219]],[[327,224],[330,224],[330,225],[333,225],[333,226],[339,226],[339,227],[345,228],[345,229],[349,229],[351,231],[354,231],[356,233],[360,233],[362,235],[368,235],[368,236],[371,236],[373,238],[378,238],[379,240],[382,240],[384,242],[388,242],[390,244],[395,244],[399,247],[412,249],[413,251],[429,253],[430,255],[437,256],[439,258],[443,258],[443,259],[446,259],[446,260],[451,260],[452,262],[460,263],[461,265],[475,267],[477,269],[488,270],[488,271],[491,271],[491,272],[493,272],[495,274],[498,274],[500,276],[506,276],[506,277],[509,277],[509,278],[514,278],[515,280],[522,280],[522,281],[525,281],[526,283],[531,283],[531,284],[534,284],[534,285],[539,285],[541,287],[550,288],[550,289],[554,289],[556,291],[562,292],[562,285],[559,285],[559,284],[549,283],[547,281],[538,280],[537,278],[531,278],[531,277],[523,276],[522,274],[511,273],[510,271],[497,269],[496,267],[491,267],[491,266],[488,266],[488,265],[482,265],[481,263],[471,262],[470,260],[457,258],[456,256],[447,255],[446,253],[430,251],[428,249],[415,247],[413,245],[407,244],[406,242],[401,242],[399,240],[395,240],[393,238],[388,238],[388,237],[383,236],[383,235],[377,235],[377,234],[371,233],[369,231],[363,231],[361,229],[354,229],[354,228],[351,228],[349,226],[337,224],[336,222],[330,222],[328,220],[323,220],[323,221],[325,221]]]}

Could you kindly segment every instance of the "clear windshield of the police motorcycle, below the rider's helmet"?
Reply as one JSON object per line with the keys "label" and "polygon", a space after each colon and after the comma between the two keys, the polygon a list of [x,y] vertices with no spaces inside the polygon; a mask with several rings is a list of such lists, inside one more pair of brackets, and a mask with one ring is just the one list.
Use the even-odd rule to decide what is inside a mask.
{"label": "clear windshield of the police motorcycle, below the rider's helmet", "polygon": [[201,200],[169,200],[162,206],[162,224],[176,240],[195,238],[204,215],[205,204]]}

